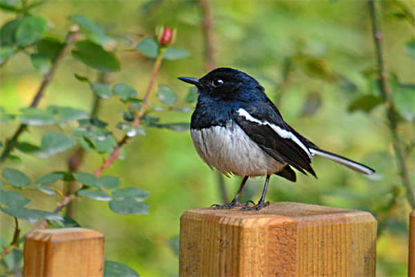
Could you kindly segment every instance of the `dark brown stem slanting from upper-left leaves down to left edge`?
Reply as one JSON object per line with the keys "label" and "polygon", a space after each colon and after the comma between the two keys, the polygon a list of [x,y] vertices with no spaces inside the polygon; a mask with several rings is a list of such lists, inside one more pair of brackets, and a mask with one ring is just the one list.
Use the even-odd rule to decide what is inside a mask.
{"label": "dark brown stem slanting from upper-left leaves down to left edge", "polygon": [[[37,89],[37,93],[35,94],[35,97],[33,98],[29,107],[37,107],[37,105],[39,105],[39,101],[44,96],[44,91],[46,87],[48,87],[48,84],[50,84],[50,81],[53,79],[53,76],[55,75],[57,66],[59,66],[59,64],[62,62],[64,57],[68,54],[68,51],[71,48],[71,45],[77,39],[79,39],[79,34],[76,31],[72,31],[72,30],[69,31],[68,35],[66,36],[66,42],[64,46],[62,46],[62,48],[60,49],[48,73],[44,75],[42,83],[40,84],[39,89]],[[26,124],[19,125],[15,134],[13,134],[13,136],[8,141],[6,141],[4,148],[3,148],[3,152],[1,152],[1,155],[0,155],[0,163],[5,161],[7,157],[10,155],[10,152],[12,152],[12,150],[15,148],[17,139],[19,139],[19,136],[21,135],[22,132],[24,132],[26,127],[27,127]]]}

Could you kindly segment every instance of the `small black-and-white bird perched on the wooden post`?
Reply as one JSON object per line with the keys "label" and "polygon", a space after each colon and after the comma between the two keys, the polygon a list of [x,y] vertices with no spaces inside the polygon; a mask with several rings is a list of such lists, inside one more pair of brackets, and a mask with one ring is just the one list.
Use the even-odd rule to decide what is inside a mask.
{"label": "small black-and-white bird perched on the wooden post", "polygon": [[[178,77],[198,89],[196,108],[190,121],[190,134],[197,153],[208,166],[223,175],[243,177],[229,204],[213,204],[215,209],[241,207],[261,210],[271,175],[297,180],[295,170],[317,178],[311,167],[320,156],[365,175],[374,174],[368,166],[322,150],[299,134],[282,118],[255,78],[237,69],[219,67],[202,78]],[[259,202],[239,202],[250,177],[265,176]]]}

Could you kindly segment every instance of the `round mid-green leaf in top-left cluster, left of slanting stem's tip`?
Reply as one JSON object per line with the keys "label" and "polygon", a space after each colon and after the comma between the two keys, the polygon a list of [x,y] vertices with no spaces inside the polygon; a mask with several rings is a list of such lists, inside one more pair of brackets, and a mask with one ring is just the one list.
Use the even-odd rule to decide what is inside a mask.
{"label": "round mid-green leaf in top-left cluster, left of slanting stem's tip", "polygon": [[15,39],[19,46],[33,44],[41,39],[48,30],[48,22],[43,17],[28,15],[21,19],[16,29]]}

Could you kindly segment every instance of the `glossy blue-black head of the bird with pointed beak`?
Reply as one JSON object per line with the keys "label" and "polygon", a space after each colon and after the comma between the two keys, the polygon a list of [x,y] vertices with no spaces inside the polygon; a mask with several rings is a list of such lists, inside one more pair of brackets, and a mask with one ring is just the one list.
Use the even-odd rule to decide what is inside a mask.
{"label": "glossy blue-black head of the bird with pointed beak", "polygon": [[249,101],[264,94],[264,88],[257,80],[246,73],[227,67],[214,69],[200,79],[190,77],[178,79],[196,85],[201,94],[220,99]]}

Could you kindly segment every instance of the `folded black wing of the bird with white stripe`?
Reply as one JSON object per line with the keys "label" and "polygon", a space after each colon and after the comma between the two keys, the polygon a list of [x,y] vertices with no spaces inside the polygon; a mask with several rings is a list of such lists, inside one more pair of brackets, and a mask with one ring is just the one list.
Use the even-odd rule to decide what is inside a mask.
{"label": "folded black wing of the bird with white stripe", "polygon": [[232,115],[250,139],[271,157],[288,163],[304,174],[306,170],[315,177],[308,150],[308,147],[315,145],[285,123],[270,100],[269,103],[251,102],[233,111]]}

